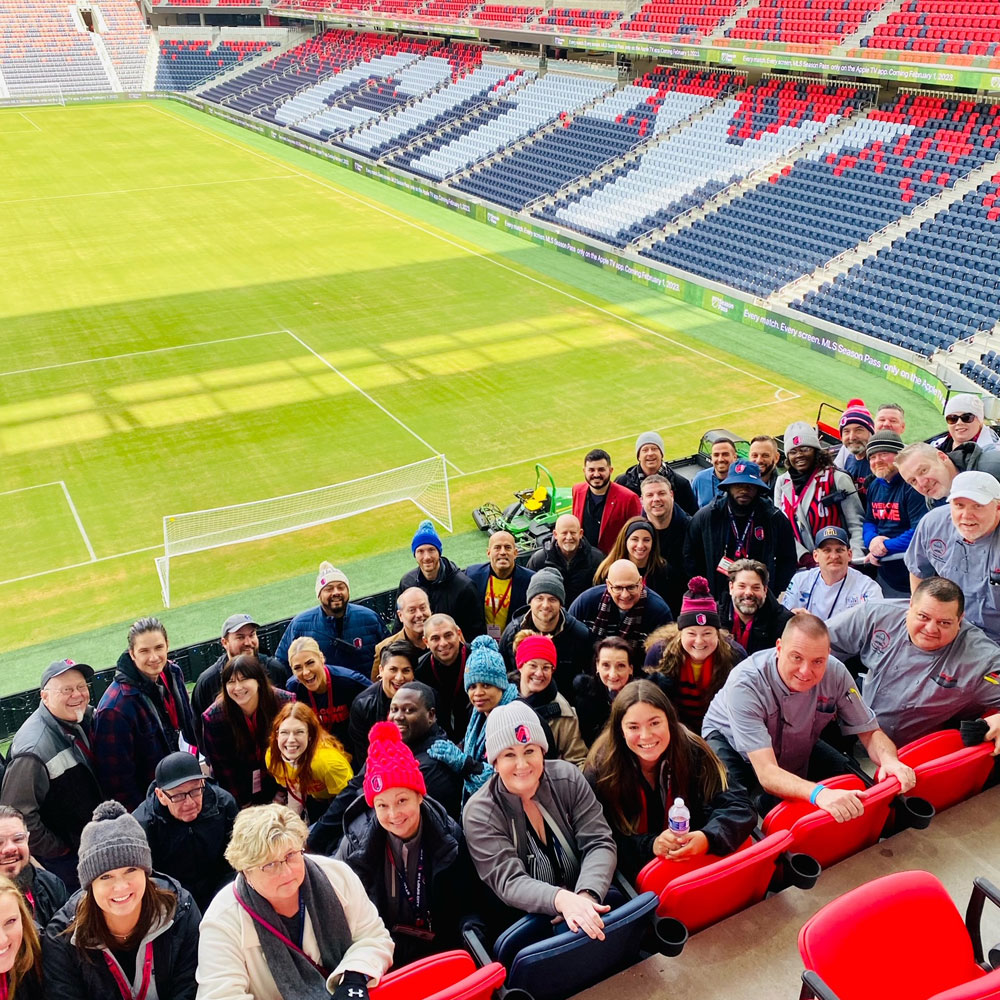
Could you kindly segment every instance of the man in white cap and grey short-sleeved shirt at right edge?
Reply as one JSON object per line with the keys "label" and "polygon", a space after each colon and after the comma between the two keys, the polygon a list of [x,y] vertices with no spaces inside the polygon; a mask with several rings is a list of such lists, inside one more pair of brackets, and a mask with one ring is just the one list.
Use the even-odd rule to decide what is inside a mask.
{"label": "man in white cap and grey short-sleeved shirt at right edge", "polygon": [[986,472],[960,472],[948,506],[917,525],[906,568],[911,593],[930,576],[953,580],[969,621],[1000,642],[1000,482]]}

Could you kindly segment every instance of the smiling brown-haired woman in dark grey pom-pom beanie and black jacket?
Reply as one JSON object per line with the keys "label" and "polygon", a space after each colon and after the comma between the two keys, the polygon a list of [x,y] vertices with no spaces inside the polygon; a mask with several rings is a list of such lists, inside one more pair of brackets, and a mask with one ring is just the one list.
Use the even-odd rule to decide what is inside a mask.
{"label": "smiling brown-haired woman in dark grey pom-pom beanie and black jacket", "polygon": [[201,913],[179,883],[153,875],[135,817],[118,802],[101,803],[79,856],[82,888],[45,928],[45,995],[194,1000]]}

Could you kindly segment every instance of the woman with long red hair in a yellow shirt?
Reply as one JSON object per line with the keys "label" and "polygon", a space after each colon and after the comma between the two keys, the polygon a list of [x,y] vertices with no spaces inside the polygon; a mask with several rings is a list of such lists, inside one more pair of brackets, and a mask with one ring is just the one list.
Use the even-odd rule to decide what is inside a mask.
{"label": "woman with long red hair in a yellow shirt", "polygon": [[288,807],[310,823],[354,777],[344,745],[319,724],[308,705],[297,701],[284,705],[275,717],[266,761],[285,790]]}

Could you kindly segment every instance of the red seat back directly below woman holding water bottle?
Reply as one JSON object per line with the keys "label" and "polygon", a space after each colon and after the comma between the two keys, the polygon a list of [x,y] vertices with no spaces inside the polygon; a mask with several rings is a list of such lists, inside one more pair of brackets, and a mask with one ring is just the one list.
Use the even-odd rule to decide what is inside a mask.
{"label": "red seat back directly below woman holding water bottle", "polygon": [[680,920],[694,934],[760,902],[774,877],[778,855],[791,843],[791,833],[781,830],[713,864],[670,879],[660,892],[657,916]]}

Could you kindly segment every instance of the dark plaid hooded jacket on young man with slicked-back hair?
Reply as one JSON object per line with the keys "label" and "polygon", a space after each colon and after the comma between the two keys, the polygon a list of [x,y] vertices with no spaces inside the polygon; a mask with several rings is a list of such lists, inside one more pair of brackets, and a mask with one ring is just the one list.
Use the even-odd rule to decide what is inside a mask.
{"label": "dark plaid hooded jacket on young man with slicked-back hair", "polygon": [[[197,746],[181,668],[169,661],[160,676],[177,706],[179,735]],[[156,765],[178,749],[178,730],[171,724],[159,685],[139,672],[126,650],[118,657],[115,679],[94,714],[94,756],[101,787],[126,809],[135,809],[146,797]]]}

